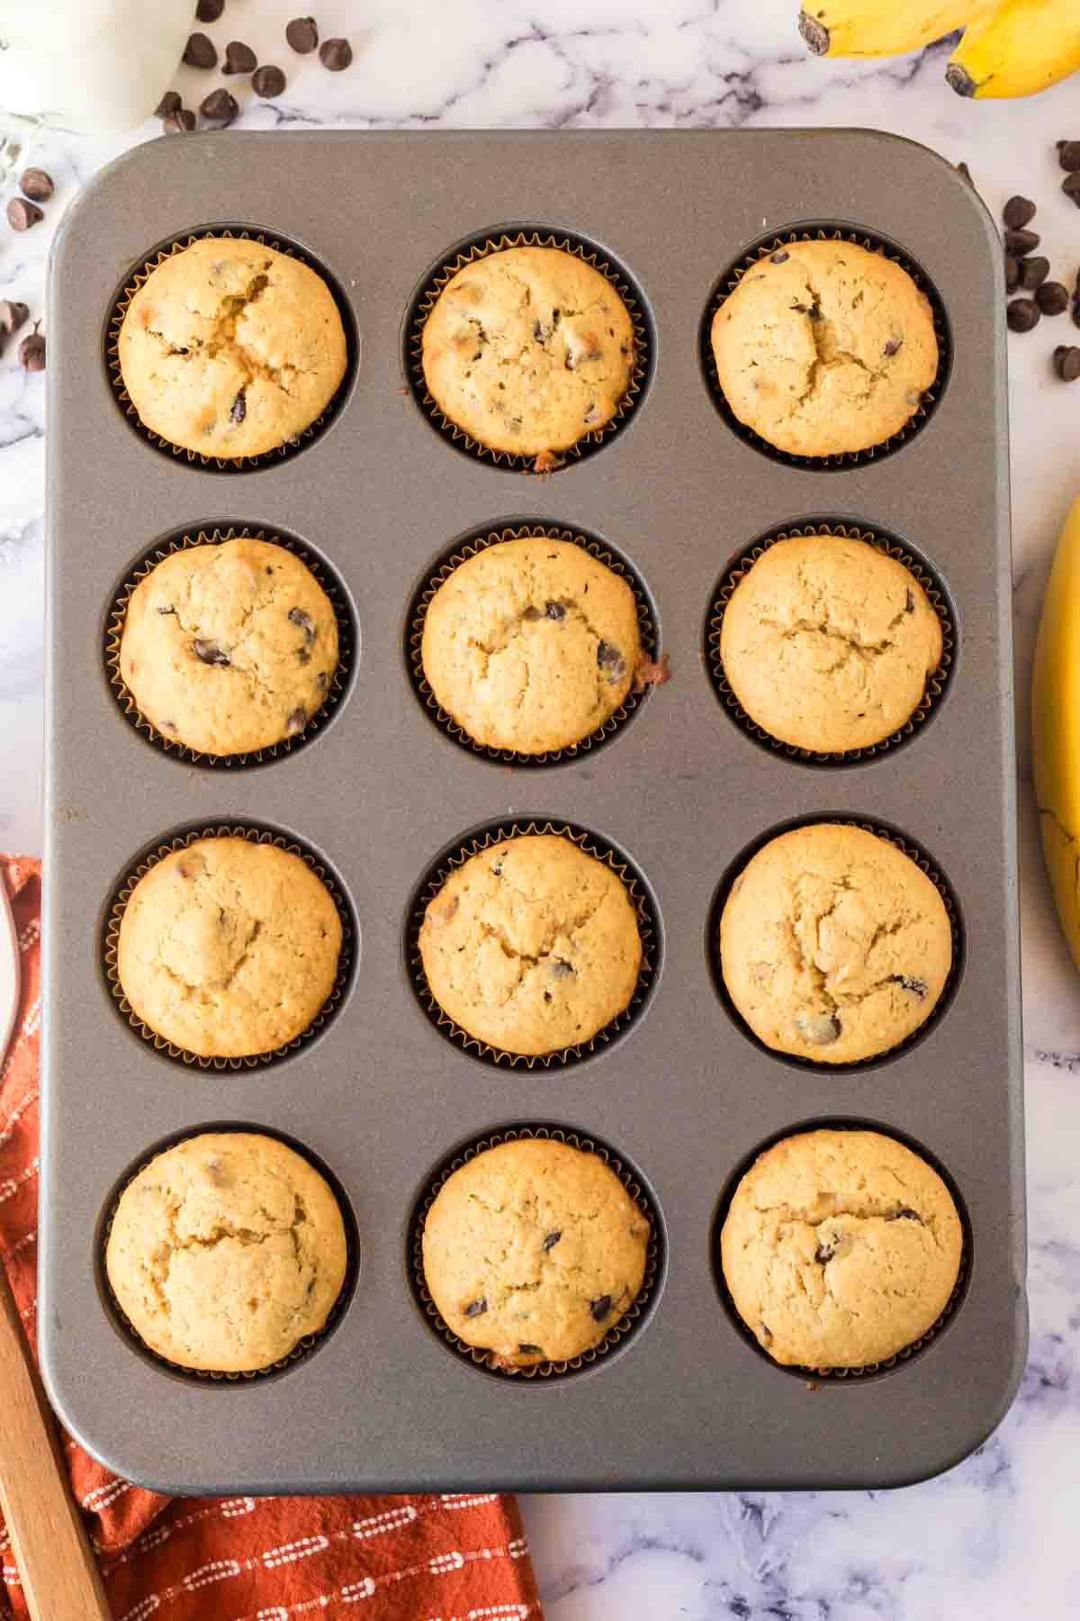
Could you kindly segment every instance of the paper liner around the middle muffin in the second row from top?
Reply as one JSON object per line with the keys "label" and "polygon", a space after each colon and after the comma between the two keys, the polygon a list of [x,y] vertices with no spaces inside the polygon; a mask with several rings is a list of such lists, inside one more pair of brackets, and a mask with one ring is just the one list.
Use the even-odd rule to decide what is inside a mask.
{"label": "paper liner around the middle muffin in the second row from top", "polygon": [[641,635],[641,650],[648,658],[654,658],[656,653],[656,626],[653,622],[653,609],[649,606],[649,598],[641,579],[635,574],[630,564],[610,550],[604,541],[596,540],[591,535],[585,535],[580,530],[560,528],[557,524],[513,524],[500,530],[478,530],[466,540],[458,541],[449,553],[445,553],[439,567],[424,582],[419,592],[413,597],[410,606],[410,631],[408,631],[408,669],[413,682],[413,691],[416,697],[424,705],[431,720],[442,729],[449,738],[453,738],[461,749],[470,754],[483,755],[487,760],[497,760],[500,765],[515,767],[536,767],[536,765],[557,765],[562,760],[573,760],[578,754],[586,754],[589,751],[599,749],[601,744],[607,742],[614,734],[623,726],[625,721],[635,713],[641,705],[643,699],[648,697],[648,687],[644,692],[635,692],[633,687],[622,700],[617,710],[614,710],[602,726],[591,731],[588,738],[581,738],[578,742],[567,744],[565,749],[547,749],[544,754],[518,754],[517,749],[494,749],[487,744],[476,742],[474,738],[465,731],[447,712],[440,707],[436,699],[427,678],[424,676],[424,666],[421,658],[421,644],[424,637],[424,622],[427,618],[427,608],[431,600],[445,580],[450,579],[453,571],[460,564],[466,562],[470,558],[478,556],[478,553],[486,551],[487,546],[500,545],[507,540],[523,540],[528,537],[547,538],[547,540],[567,540],[581,551],[588,551],[591,558],[602,562],[606,567],[623,579],[633,590],[635,601],[638,605],[638,629]]}

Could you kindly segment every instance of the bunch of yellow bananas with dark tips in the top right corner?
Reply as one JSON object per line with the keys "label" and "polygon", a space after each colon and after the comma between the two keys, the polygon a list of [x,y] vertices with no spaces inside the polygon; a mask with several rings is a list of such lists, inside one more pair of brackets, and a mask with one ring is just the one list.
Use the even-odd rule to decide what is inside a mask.
{"label": "bunch of yellow bananas with dark tips in the top right corner", "polygon": [[818,57],[895,57],[957,28],[959,96],[1033,96],[1080,68],[1080,0],[813,0],[798,18]]}

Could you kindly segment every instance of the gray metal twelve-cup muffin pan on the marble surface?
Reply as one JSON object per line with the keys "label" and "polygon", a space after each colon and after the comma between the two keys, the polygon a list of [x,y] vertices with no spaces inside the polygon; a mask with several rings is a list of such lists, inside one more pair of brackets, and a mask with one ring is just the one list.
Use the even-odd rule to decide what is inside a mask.
{"label": "gray metal twelve-cup muffin pan on the marble surface", "polygon": [[[709,396],[699,323],[721,272],[801,220],[881,232],[925,267],[952,374],[923,431],[884,459],[811,472],[740,441]],[[355,386],[298,456],[199,470],[125,423],[102,365],[110,303],[159,242],[217,222],[291,238],[338,280]],[[594,456],[529,478],[460,454],[405,387],[403,323],[463,237],[520,222],[581,233],[644,290],[651,386]],[[865,131],[298,133],[155,141],[70,209],[49,306],[49,785],[39,1337],[52,1401],[112,1469],[165,1491],[886,1486],[978,1446],[1025,1355],[1025,1213],[1001,253],[942,159]],[[949,691],[918,736],[847,767],[795,763],[722,713],[704,665],[727,562],[756,535],[831,517],[881,525],[955,608]],[[609,540],[657,606],[674,681],[606,747],[547,768],[470,757],[410,684],[406,611],[460,535],[513,520]],[[159,537],[283,527],[351,593],[355,679],[304,749],[220,772],[154,749],[104,666],[113,590]],[[797,817],[881,822],[925,848],[960,905],[967,956],[923,1041],[831,1073],[780,1062],[724,1008],[706,927],[717,885]],[[444,1041],[406,973],[416,885],[458,835],[563,819],[625,849],[664,950],[644,1013],[568,1068],[476,1062]],[[324,1033],[280,1063],[185,1068],[118,1018],[102,971],[108,898],[147,846],[256,820],[340,874],[361,950]],[[759,1144],[819,1120],[923,1144],[970,1219],[967,1295],[928,1349],[873,1378],[806,1379],[732,1324],[712,1274],[717,1204]],[[359,1279],[290,1371],[175,1376],[115,1323],[96,1269],[117,1183],[159,1143],[215,1122],[295,1138],[340,1178]],[[410,1217],[449,1151],[500,1125],[609,1144],[662,1213],[665,1271],[615,1355],[567,1378],[484,1376],[410,1289]]]}

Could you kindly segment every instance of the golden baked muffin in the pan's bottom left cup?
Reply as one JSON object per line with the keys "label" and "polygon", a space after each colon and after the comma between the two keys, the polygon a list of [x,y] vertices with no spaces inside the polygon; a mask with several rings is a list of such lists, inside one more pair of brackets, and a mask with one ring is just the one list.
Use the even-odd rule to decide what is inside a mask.
{"label": "golden baked muffin in the pan's bottom left cup", "polygon": [[345,1224],[325,1180],[272,1136],[206,1131],[120,1195],[105,1271],[159,1357],[253,1373],[317,1334],[345,1282]]}

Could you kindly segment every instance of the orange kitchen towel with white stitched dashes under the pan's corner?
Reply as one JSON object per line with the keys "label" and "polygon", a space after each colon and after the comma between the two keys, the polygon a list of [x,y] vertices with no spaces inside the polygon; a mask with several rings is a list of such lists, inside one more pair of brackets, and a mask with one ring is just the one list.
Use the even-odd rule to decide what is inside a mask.
{"label": "orange kitchen towel with white stitched dashes under the pan's corner", "polygon": [[[0,856],[0,882],[23,976],[0,1070],[0,1258],[34,1344],[40,864]],[[65,1444],[117,1621],[541,1621],[513,1498],[162,1498]],[[0,1616],[24,1616],[2,1522],[0,1561]]]}

